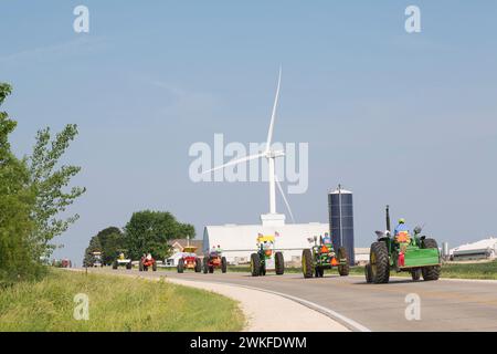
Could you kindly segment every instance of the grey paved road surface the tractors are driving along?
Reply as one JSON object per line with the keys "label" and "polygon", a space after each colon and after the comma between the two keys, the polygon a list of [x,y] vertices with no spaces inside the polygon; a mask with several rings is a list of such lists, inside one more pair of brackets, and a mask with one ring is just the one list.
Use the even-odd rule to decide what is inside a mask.
{"label": "grey paved road surface the tractors are driving along", "polygon": [[[327,274],[303,279],[302,274],[253,278],[246,273],[203,274],[172,271],[125,271],[146,277],[167,275],[269,290],[304,299],[337,312],[371,331],[497,331],[497,281],[412,282],[393,278],[388,284],[367,284],[362,277]],[[408,321],[408,294],[421,299],[421,320]]]}

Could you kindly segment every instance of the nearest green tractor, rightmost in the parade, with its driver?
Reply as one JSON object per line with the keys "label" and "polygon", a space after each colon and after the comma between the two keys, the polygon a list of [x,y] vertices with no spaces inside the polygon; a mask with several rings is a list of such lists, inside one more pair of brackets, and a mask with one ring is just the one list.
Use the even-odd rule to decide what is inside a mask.
{"label": "nearest green tractor, rightmost in the parade, with its driver", "polygon": [[414,235],[400,232],[390,235],[390,211],[387,206],[387,231],[376,231],[378,241],[371,244],[369,263],[364,268],[368,283],[388,283],[390,270],[411,273],[412,280],[423,277],[425,281],[438,280],[441,256],[436,241],[421,236],[422,228],[415,227]]}

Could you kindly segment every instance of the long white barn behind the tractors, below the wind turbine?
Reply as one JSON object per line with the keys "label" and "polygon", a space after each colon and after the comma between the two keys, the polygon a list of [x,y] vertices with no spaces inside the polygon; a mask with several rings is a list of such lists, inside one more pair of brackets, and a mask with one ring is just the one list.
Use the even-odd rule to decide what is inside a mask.
{"label": "long white barn behind the tractors, below the wind turbine", "polygon": [[300,262],[302,250],[309,248],[308,238],[329,232],[328,223],[288,223],[267,225],[224,225],[207,226],[203,230],[203,250],[220,246],[223,256],[231,264],[250,262],[251,253],[256,251],[258,233],[279,235],[275,239],[275,249],[283,250],[285,262]]}

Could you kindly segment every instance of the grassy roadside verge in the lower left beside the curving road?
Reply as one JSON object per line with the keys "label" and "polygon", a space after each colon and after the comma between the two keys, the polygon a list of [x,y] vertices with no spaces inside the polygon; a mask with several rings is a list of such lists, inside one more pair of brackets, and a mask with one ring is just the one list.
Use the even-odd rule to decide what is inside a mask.
{"label": "grassy roadside verge in the lower left beside the curving road", "polygon": [[[74,320],[74,295],[89,320]],[[161,281],[52,270],[38,282],[0,290],[1,331],[240,331],[235,301]]]}

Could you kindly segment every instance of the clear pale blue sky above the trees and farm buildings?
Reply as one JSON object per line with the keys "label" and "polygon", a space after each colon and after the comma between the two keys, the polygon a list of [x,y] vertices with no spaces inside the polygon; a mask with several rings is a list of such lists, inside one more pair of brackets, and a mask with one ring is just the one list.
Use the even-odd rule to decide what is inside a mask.
{"label": "clear pale blue sky above the trees and farm buildings", "polygon": [[[73,9],[89,9],[89,33]],[[422,32],[404,31],[421,9]],[[355,192],[356,243],[383,207],[451,246],[497,230],[497,45],[494,1],[0,1],[0,81],[19,121],[80,126],[66,155],[87,194],[57,257],[135,210],[204,225],[258,222],[267,184],[193,184],[192,143],[263,142],[283,65],[275,140],[309,143],[298,222],[326,221],[330,188]],[[282,200],[278,208],[283,211]],[[305,237],[305,236],[304,236]]]}

